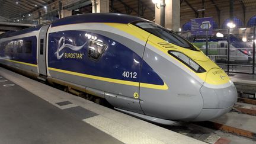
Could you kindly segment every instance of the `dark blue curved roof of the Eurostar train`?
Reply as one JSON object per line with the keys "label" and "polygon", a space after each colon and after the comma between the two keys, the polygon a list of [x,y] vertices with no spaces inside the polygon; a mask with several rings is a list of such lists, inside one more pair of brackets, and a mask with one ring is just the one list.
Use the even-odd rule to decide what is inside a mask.
{"label": "dark blue curved roof of the Eurostar train", "polygon": [[[65,17],[56,21],[53,21],[52,27],[57,27],[60,25],[67,24],[79,24],[79,23],[121,23],[128,24],[133,21],[148,21],[144,18],[135,17],[126,14],[117,13],[93,13],[93,14],[82,14],[82,15],[72,15],[71,17]],[[20,34],[30,33],[31,31],[40,30],[42,25],[37,25],[36,27],[25,28],[20,31],[9,31],[7,33],[1,34],[0,39],[7,37],[17,36]]]}

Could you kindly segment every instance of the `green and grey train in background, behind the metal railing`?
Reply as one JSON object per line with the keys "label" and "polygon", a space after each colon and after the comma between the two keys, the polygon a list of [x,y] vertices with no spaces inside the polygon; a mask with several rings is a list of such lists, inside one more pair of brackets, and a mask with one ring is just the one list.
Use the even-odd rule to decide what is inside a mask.
{"label": "green and grey train in background, behind the metal railing", "polygon": [[[218,34],[218,33],[217,33]],[[209,36],[208,54],[216,63],[227,63],[228,61],[228,39],[227,36],[217,37]],[[206,53],[205,36],[196,36],[191,41]],[[230,34],[229,62],[233,64],[249,64],[252,62],[252,47],[250,44],[242,41],[234,34]]]}

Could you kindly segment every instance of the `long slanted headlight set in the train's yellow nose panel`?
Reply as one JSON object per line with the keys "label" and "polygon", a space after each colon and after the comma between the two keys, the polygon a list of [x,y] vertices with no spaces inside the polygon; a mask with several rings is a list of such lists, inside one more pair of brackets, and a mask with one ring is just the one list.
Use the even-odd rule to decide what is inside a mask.
{"label": "long slanted headlight set in the train's yellow nose panel", "polygon": [[190,59],[190,57],[184,55],[183,53],[171,51],[171,50],[169,50],[168,53],[169,55],[183,62],[185,65],[191,68],[194,72],[197,72],[197,73],[206,72],[206,70],[203,69],[199,64],[194,62],[194,60]]}

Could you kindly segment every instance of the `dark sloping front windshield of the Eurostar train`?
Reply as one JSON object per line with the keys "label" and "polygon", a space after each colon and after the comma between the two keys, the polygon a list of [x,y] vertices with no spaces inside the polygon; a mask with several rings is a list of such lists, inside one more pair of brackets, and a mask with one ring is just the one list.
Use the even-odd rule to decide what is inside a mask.
{"label": "dark sloping front windshield of the Eurostar train", "polygon": [[149,21],[135,21],[131,24],[136,25],[137,27],[142,28],[145,31],[148,31],[149,33],[167,41],[168,43],[172,43],[187,49],[197,50],[196,47],[193,46],[193,44],[178,36],[178,34],[175,34],[173,31],[167,30],[166,28],[161,27],[158,24]]}

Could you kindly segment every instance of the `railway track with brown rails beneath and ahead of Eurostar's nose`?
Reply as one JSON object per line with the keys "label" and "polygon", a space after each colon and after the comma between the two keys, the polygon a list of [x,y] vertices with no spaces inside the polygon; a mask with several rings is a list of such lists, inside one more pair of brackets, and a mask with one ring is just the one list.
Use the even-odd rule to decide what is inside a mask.
{"label": "railway track with brown rails beneath and ahead of Eurostar's nose", "polygon": [[219,119],[162,126],[207,143],[256,144],[255,100],[238,98],[233,110]]}

